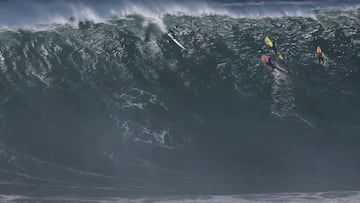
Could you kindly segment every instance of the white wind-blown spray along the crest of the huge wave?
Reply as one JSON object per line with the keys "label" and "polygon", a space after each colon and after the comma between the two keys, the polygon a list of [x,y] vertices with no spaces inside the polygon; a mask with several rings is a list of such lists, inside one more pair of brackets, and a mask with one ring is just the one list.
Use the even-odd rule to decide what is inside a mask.
{"label": "white wind-blown spray along the crest of the huge wave", "polygon": [[[19,13],[17,6],[12,7],[11,13]],[[29,9],[29,14],[18,15],[16,19],[6,21],[6,16],[0,21],[0,28],[8,29],[12,27],[39,27],[39,25],[53,24],[78,24],[79,21],[92,21],[94,23],[103,23],[109,19],[124,18],[129,15],[140,15],[159,25],[165,31],[166,26],[163,18],[166,15],[222,15],[232,18],[281,18],[281,17],[310,17],[315,18],[314,9],[322,6],[313,2],[272,2],[270,3],[204,3],[204,2],[121,2],[104,3],[101,9],[97,5],[72,4],[62,2],[58,5],[42,5],[41,12],[38,12],[38,5],[33,5]],[[329,4],[324,8],[336,9],[357,9],[360,3]],[[21,6],[20,6],[21,7]],[[323,7],[321,7],[323,8]],[[0,10],[1,11],[1,10]],[[3,14],[6,15],[6,14]],[[75,20],[70,21],[73,17]]]}

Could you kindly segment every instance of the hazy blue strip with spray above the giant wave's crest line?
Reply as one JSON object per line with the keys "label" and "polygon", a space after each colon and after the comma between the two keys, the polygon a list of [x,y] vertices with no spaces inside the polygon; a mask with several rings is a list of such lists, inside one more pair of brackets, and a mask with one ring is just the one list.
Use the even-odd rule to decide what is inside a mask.
{"label": "hazy blue strip with spray above the giant wave's crest line", "polygon": [[275,1],[275,2],[203,2],[203,1],[152,1],[129,2],[105,1],[73,2],[73,1],[5,1],[0,3],[0,27],[29,27],[37,24],[66,24],[69,18],[75,17],[79,21],[90,20],[104,22],[111,18],[141,15],[152,19],[161,19],[164,15],[224,15],[233,18],[265,18],[302,16],[314,17],[314,9],[358,8],[358,2],[328,3],[315,1]]}

